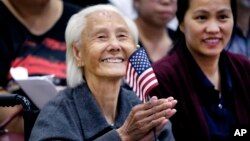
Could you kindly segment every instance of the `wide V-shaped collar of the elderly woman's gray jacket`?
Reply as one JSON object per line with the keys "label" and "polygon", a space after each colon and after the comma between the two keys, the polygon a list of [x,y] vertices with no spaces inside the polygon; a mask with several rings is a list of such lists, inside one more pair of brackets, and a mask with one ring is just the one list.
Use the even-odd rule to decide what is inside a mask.
{"label": "wide V-shaped collar of the elderly woman's gray jacket", "polygon": [[91,93],[87,84],[80,85],[74,94],[76,101],[76,108],[79,114],[79,120],[82,127],[82,134],[85,139],[93,140],[102,134],[120,127],[125,121],[127,114],[131,110],[131,105],[128,104],[129,99],[126,97],[127,93],[121,89],[118,98],[118,111],[114,127],[108,124],[95,97]]}

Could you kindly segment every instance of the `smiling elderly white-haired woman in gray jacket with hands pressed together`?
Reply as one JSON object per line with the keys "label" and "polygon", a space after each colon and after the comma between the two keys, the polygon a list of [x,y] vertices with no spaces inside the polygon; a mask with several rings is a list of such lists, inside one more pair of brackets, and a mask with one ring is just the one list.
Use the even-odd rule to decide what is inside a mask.
{"label": "smiling elderly white-haired woman in gray jacket with hands pressed together", "polygon": [[72,16],[66,29],[67,88],[40,112],[30,140],[174,140],[169,118],[176,100],[142,104],[121,88],[137,29],[111,5]]}

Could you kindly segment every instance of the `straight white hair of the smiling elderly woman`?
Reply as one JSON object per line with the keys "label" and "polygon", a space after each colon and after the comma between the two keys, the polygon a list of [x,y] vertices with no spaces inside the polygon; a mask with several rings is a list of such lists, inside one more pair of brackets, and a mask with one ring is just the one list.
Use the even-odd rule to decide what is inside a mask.
{"label": "straight white hair of the smiling elderly woman", "polygon": [[67,85],[69,87],[76,87],[77,85],[85,82],[84,74],[77,66],[76,60],[73,54],[73,44],[75,43],[77,47],[81,47],[81,35],[86,27],[87,16],[96,11],[112,11],[120,15],[126,22],[130,33],[134,39],[135,45],[138,44],[138,29],[133,20],[126,17],[121,13],[115,6],[110,4],[98,4],[94,6],[89,6],[79,11],[78,13],[72,15],[68,21],[68,25],[65,31],[66,40],[66,64],[67,64]]}

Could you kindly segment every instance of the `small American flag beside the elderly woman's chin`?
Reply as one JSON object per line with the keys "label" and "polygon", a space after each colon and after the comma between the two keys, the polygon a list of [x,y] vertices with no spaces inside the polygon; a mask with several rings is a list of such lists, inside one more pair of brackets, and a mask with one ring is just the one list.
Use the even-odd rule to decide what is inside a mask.
{"label": "small American flag beside the elderly woman's chin", "polygon": [[140,47],[129,57],[125,79],[142,102],[146,101],[148,92],[158,85],[144,48]]}

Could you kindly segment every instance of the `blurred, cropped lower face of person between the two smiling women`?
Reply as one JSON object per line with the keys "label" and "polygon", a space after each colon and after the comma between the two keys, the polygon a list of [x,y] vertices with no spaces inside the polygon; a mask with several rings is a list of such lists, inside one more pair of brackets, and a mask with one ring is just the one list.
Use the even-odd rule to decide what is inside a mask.
{"label": "blurred, cropped lower face of person between the two smiling women", "polygon": [[175,17],[176,4],[176,0],[134,0],[138,16],[153,26],[166,26]]}

